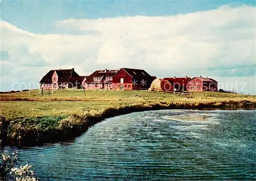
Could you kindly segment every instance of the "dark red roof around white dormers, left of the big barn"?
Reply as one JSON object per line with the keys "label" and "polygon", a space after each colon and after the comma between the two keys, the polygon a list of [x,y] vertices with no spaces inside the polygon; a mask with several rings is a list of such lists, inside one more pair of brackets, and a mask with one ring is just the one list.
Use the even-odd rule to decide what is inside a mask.
{"label": "dark red roof around white dormers, left of the big barn", "polygon": [[93,77],[102,77],[100,83],[103,82],[112,82],[105,81],[106,76],[113,76],[118,70],[96,70],[91,75],[87,77],[86,83],[99,83],[99,81],[94,81]]}

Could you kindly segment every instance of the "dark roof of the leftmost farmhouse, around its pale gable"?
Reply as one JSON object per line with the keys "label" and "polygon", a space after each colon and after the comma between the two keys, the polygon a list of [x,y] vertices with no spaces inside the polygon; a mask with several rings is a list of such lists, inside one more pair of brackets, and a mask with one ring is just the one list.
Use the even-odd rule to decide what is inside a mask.
{"label": "dark roof of the leftmost farmhouse, around its pale gable", "polygon": [[[69,82],[70,77],[79,76],[74,68],[72,69],[58,69],[58,70],[50,70],[44,77],[42,77],[40,83],[52,83],[52,75],[56,71],[58,75],[58,83],[61,82]],[[79,76],[80,77],[80,76]]]}

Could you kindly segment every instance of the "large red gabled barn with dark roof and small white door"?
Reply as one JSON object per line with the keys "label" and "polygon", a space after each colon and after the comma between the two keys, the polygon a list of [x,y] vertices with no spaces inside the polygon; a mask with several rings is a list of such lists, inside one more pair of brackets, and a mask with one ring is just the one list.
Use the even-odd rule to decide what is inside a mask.
{"label": "large red gabled barn with dark roof and small white door", "polygon": [[145,70],[133,68],[120,68],[113,76],[113,89],[115,90],[139,90],[148,89],[155,77]]}

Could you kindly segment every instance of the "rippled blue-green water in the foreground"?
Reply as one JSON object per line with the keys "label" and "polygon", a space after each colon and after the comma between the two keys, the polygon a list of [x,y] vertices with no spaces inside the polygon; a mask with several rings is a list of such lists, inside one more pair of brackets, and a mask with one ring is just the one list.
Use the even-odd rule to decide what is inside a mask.
{"label": "rippled blue-green water in the foreground", "polygon": [[163,110],[107,119],[71,143],[16,150],[40,180],[256,179],[256,111]]}

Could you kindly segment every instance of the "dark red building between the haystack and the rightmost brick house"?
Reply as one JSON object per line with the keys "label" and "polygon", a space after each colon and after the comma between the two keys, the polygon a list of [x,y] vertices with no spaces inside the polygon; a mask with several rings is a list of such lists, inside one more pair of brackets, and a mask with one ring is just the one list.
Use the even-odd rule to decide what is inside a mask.
{"label": "dark red building between the haystack and the rightmost brick house", "polygon": [[187,90],[187,83],[191,80],[190,77],[165,77],[163,80],[169,81],[173,83],[174,89],[177,91],[186,91]]}

